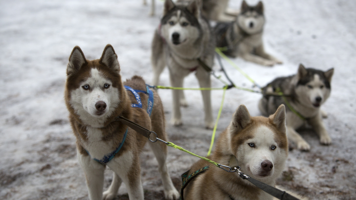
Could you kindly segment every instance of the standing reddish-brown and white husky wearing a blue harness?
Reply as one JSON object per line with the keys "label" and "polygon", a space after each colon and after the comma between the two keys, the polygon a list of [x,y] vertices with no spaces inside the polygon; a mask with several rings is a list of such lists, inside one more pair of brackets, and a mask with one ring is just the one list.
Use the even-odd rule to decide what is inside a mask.
{"label": "standing reddish-brown and white husky wearing a blue harness", "polygon": [[[131,200],[143,200],[139,152],[147,138],[115,117],[132,120],[165,140],[164,111],[158,94],[146,88],[141,77],[121,81],[120,65],[110,44],[97,60],[86,60],[76,46],[67,66],[65,102],[77,138],[77,155],[87,179],[89,199],[112,200],[124,182]],[[133,104],[141,108],[133,108]],[[177,199],[179,194],[166,166],[167,146],[163,143],[150,146],[159,164],[166,199]],[[109,189],[102,193],[105,165],[114,173]]]}

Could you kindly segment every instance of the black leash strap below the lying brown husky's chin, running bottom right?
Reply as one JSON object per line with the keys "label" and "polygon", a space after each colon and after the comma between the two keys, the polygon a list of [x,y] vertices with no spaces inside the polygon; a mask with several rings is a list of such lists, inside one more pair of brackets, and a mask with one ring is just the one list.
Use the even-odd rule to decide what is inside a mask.
{"label": "black leash strap below the lying brown husky's chin, running bottom right", "polygon": [[285,191],[278,190],[277,188],[269,186],[266,183],[263,183],[261,181],[251,178],[250,176],[248,176],[248,175],[244,174],[243,172],[241,172],[240,170],[238,170],[236,167],[235,167],[235,170],[238,172],[239,176],[242,179],[246,179],[246,180],[250,181],[252,184],[257,186],[261,190],[267,192],[268,194],[272,195],[273,197],[275,197],[279,200],[299,200],[299,199],[293,197],[292,195],[286,193]]}

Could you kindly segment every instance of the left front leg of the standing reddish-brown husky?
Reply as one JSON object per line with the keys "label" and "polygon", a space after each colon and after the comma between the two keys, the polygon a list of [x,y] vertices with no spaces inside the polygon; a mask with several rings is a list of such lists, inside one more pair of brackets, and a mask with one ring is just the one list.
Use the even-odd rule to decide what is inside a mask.
{"label": "left front leg of the standing reddish-brown husky", "polygon": [[77,155],[86,176],[89,200],[101,200],[105,165],[92,160],[89,155],[83,155],[80,152],[77,152]]}

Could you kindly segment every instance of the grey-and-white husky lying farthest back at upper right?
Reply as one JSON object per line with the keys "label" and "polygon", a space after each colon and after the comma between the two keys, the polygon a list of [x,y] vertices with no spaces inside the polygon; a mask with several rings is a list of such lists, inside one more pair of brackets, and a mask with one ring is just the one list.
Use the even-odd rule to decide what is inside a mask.
{"label": "grey-and-white husky lying farthest back at upper right", "polygon": [[231,57],[240,56],[266,66],[282,64],[282,61],[265,52],[262,41],[264,25],[263,3],[260,1],[256,6],[249,6],[243,0],[241,12],[234,22],[220,22],[215,26],[217,46]]}

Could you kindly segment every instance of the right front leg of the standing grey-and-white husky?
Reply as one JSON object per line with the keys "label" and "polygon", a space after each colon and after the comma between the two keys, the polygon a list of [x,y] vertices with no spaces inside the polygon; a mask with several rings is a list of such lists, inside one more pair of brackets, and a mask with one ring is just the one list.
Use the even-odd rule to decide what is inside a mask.
{"label": "right front leg of the standing grey-and-white husky", "polygon": [[[200,87],[211,87],[210,74],[202,67],[198,68],[195,74],[199,81]],[[211,90],[201,90],[203,96],[204,112],[205,112],[205,127],[209,129],[214,128],[214,119],[211,106]]]}

